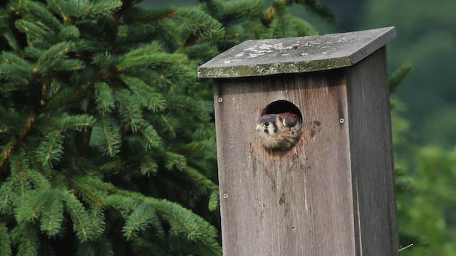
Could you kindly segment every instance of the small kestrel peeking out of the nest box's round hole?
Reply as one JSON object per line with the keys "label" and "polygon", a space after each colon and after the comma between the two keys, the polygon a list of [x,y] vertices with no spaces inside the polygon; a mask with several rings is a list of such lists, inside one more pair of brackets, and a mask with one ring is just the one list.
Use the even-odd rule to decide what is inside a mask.
{"label": "small kestrel peeking out of the nest box's round hole", "polygon": [[293,113],[264,114],[257,121],[257,134],[266,149],[291,149],[302,134],[301,117]]}

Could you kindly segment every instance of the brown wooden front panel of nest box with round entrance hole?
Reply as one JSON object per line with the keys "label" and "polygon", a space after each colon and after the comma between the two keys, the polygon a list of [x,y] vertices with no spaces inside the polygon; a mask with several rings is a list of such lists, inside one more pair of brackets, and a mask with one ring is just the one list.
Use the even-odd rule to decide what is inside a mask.
{"label": "brown wooden front panel of nest box with round entrance hole", "polygon": [[[355,255],[344,75],[214,80],[225,256]],[[255,122],[276,100],[299,108],[303,134],[293,149],[271,154]]]}

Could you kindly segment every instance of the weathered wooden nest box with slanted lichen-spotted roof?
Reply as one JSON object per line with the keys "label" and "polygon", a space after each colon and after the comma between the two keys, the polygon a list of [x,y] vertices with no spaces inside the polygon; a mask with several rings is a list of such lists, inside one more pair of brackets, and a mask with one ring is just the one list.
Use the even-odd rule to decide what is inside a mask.
{"label": "weathered wooden nest box with slanted lichen-spotted roof", "polygon": [[[395,28],[246,41],[213,78],[224,255],[398,255],[385,44]],[[287,151],[263,114],[302,118]]]}

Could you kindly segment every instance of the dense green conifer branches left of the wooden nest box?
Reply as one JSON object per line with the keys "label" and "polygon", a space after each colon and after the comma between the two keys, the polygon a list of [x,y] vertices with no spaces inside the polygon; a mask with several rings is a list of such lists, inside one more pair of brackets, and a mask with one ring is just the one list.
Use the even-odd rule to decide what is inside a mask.
{"label": "dense green conifer branches left of the wooden nest box", "polygon": [[290,4],[333,18],[319,1],[138,2],[0,6],[0,255],[220,255],[196,67],[246,39],[316,33]]}

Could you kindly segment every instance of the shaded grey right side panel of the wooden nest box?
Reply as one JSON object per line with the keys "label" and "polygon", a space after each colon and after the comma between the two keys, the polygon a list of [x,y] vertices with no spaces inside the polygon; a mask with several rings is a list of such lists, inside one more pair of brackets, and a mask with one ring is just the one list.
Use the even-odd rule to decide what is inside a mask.
{"label": "shaded grey right side panel of the wooden nest box", "polygon": [[398,255],[385,47],[353,66],[347,83],[359,255]]}

